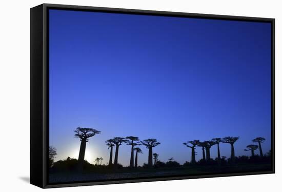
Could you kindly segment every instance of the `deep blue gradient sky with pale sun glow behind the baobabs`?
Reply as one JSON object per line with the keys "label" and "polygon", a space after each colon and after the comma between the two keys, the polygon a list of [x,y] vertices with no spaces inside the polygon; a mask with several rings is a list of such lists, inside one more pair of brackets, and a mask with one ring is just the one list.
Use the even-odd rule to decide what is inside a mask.
{"label": "deep blue gradient sky with pale sun glow behind the baobabs", "polygon": [[[91,163],[109,162],[104,142],[113,137],[156,138],[153,152],[165,162],[190,161],[183,142],[194,139],[239,136],[236,156],[250,155],[255,137],[270,149],[270,23],[50,10],[49,30],[55,161],[78,158],[78,126],[102,131],[87,143]],[[148,149],[140,147],[142,165]],[[229,144],[220,149],[230,156]],[[119,163],[129,159],[123,144]]]}

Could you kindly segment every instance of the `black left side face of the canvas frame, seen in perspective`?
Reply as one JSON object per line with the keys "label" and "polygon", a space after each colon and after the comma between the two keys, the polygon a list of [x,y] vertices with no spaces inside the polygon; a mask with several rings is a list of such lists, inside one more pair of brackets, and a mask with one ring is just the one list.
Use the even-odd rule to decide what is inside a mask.
{"label": "black left side face of the canvas frame, seen in perspective", "polygon": [[30,9],[30,183],[43,187],[43,5]]}

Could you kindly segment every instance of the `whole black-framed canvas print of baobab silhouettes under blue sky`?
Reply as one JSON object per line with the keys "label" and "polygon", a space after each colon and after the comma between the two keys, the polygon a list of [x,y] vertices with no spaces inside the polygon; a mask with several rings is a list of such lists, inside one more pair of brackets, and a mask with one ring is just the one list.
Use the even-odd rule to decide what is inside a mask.
{"label": "whole black-framed canvas print of baobab silhouettes under blue sky", "polygon": [[30,10],[30,182],[274,173],[274,19]]}

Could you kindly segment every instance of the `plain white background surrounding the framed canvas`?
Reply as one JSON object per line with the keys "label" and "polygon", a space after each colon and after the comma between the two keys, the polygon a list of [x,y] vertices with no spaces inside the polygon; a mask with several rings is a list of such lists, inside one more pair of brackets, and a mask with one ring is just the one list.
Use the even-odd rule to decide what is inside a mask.
{"label": "plain white background surrounding the framed canvas", "polygon": [[[29,184],[29,9],[42,3],[147,9],[276,19],[276,174],[48,189],[48,191],[277,191],[282,181],[282,11],[275,0],[2,1],[0,7],[0,190],[37,191]],[[280,137],[279,137],[280,136]]]}

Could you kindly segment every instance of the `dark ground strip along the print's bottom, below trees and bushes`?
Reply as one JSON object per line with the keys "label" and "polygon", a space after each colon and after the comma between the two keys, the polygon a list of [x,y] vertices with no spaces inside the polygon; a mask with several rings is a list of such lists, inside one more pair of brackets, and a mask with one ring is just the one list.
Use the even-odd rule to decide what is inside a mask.
{"label": "dark ground strip along the print's bottom, below trees and bushes", "polygon": [[233,166],[189,166],[179,168],[140,168],[140,169],[118,169],[116,171],[84,171],[77,172],[50,172],[50,183],[75,182],[75,181],[98,181],[113,179],[131,179],[144,177],[166,177],[166,176],[191,176],[205,174],[220,174],[231,172],[253,172],[271,170],[270,164],[237,164]]}

